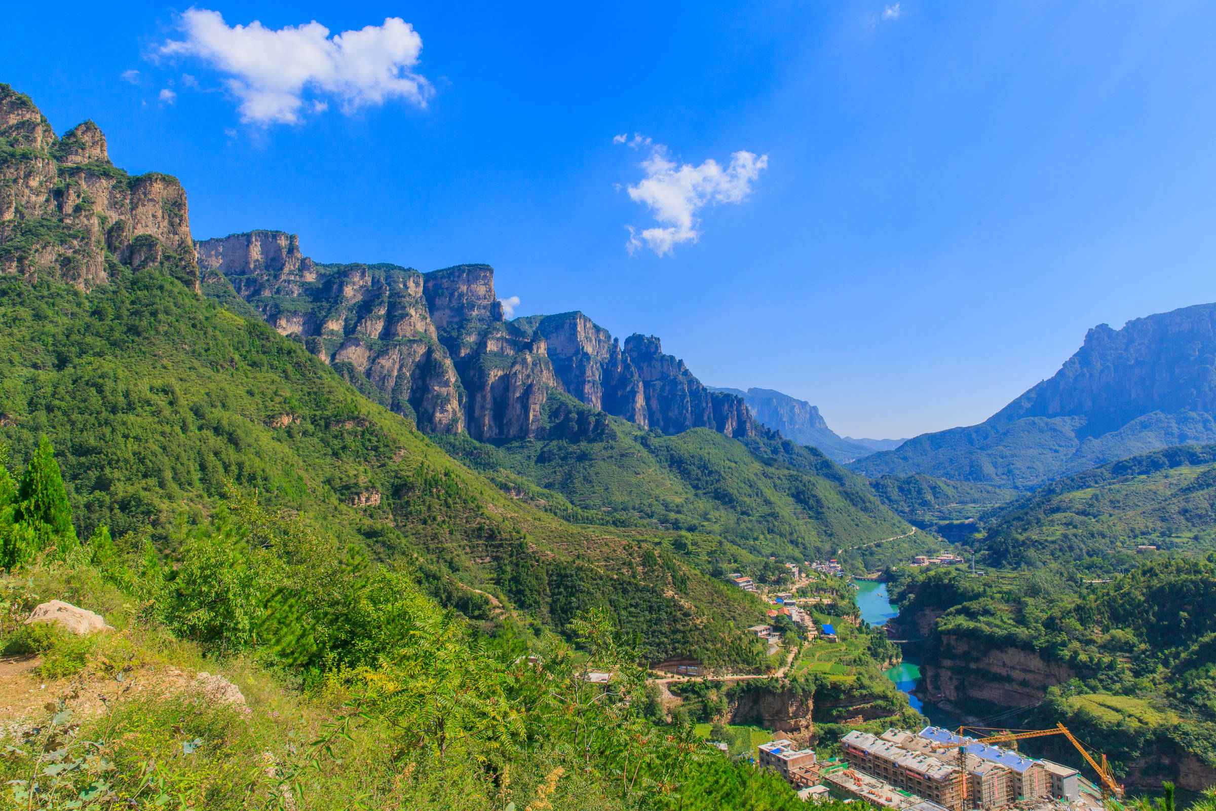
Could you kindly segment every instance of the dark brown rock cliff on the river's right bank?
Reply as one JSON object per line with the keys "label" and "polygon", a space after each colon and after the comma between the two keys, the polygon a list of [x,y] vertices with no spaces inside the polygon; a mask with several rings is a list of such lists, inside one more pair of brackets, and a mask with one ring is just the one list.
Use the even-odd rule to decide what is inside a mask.
{"label": "dark brown rock cliff on the river's right bank", "polygon": [[966,706],[973,700],[1001,706],[1028,706],[1043,699],[1047,688],[1085,676],[1060,661],[1047,661],[1034,651],[991,647],[966,637],[941,635],[935,651],[921,664],[927,700]]}

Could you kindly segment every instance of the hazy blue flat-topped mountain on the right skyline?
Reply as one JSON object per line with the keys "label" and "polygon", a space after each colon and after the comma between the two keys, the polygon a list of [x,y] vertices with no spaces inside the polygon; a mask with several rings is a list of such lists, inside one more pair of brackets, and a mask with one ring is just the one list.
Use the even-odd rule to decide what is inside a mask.
{"label": "hazy blue flat-topped mountain on the right skyline", "polygon": [[978,426],[857,460],[880,475],[1028,490],[1114,460],[1216,441],[1216,304],[1099,325],[1051,379]]}

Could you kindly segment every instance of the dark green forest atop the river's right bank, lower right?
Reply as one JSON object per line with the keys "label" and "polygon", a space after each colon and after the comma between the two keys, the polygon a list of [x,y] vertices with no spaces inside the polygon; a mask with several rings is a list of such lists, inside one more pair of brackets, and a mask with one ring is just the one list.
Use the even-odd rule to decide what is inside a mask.
{"label": "dark green forest atop the river's right bank, lower right", "polygon": [[[1100,744],[1116,773],[1139,784],[1176,779],[1187,759],[1199,775],[1216,770],[1216,554],[1142,562],[1109,584],[1088,586],[1047,569],[1001,579],[938,569],[905,573],[890,590],[901,616],[941,613],[922,663],[951,659],[966,641],[972,663],[987,652],[1023,651],[1071,674],[1037,705],[1018,714],[997,708],[1000,723],[1064,722],[1082,740]],[[969,680],[1000,677],[967,663],[957,668]],[[1026,744],[1083,767],[1066,742]]]}

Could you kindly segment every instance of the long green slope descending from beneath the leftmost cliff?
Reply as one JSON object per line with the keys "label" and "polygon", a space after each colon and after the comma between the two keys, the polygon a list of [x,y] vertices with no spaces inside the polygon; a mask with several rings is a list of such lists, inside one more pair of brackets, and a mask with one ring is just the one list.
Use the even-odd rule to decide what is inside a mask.
{"label": "long green slope descending from beneath the leftmost cliff", "polygon": [[23,463],[51,439],[80,537],[106,524],[171,554],[231,483],[416,561],[469,618],[492,613],[473,588],[557,630],[606,604],[652,657],[761,661],[728,625],[753,625],[759,602],[698,574],[663,533],[575,525],[511,499],[268,326],[154,269],[108,270],[89,294],[0,280],[0,444]]}

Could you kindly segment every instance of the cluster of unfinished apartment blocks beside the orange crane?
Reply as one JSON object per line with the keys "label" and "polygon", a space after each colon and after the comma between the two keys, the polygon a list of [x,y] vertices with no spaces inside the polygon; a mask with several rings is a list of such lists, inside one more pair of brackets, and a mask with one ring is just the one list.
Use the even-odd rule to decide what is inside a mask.
{"label": "cluster of unfinished apartment blocks beside the orange crane", "polygon": [[[940,727],[921,732],[893,728],[880,736],[854,731],[841,743],[855,770],[957,811],[998,811],[1023,800],[1079,799],[1081,781],[1075,768],[959,738]],[[966,751],[964,779],[959,779],[959,747]]]}

